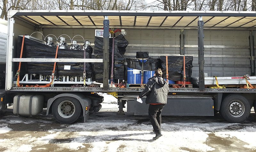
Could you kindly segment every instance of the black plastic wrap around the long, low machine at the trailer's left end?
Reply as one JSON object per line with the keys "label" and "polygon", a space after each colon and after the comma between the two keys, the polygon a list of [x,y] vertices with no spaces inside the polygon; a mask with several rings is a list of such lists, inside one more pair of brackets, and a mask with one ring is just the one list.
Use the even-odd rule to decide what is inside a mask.
{"label": "black plastic wrap around the long, low machine at the trailer's left end", "polygon": [[[18,37],[18,52],[20,57],[22,37]],[[22,58],[55,58],[56,47],[49,47],[40,42],[25,38]],[[92,58],[92,47],[86,48],[86,58]],[[84,58],[83,50],[59,49],[58,58]],[[45,59],[47,60],[47,59]],[[52,62],[22,62],[21,73],[51,75],[54,63]],[[24,66],[26,65],[26,66]],[[70,70],[64,70],[64,65],[70,65]],[[25,67],[25,68],[24,68]],[[56,63],[55,74],[60,76],[83,76],[84,63]],[[86,63],[86,77],[92,76],[92,64]]]}

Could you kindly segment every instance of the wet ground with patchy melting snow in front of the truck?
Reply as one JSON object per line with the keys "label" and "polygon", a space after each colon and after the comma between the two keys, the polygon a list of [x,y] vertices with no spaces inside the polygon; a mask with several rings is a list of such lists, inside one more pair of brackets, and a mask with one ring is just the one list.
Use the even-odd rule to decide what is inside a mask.
{"label": "wet ground with patchy melting snow in front of the truck", "polygon": [[[252,110],[241,124],[220,117],[164,116],[163,136],[153,141],[147,116],[116,115],[116,104],[103,104],[83,123],[58,124],[52,117],[0,113],[0,152],[48,151],[250,151],[256,152],[256,123]],[[106,107],[104,109],[104,107]]]}

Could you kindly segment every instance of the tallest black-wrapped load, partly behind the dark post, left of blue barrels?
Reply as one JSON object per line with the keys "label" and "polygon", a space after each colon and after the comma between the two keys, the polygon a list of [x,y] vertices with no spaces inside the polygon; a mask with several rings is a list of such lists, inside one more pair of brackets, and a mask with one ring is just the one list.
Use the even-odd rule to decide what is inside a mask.
{"label": "tallest black-wrapped load, partly behind the dark post, left of blue barrels", "polygon": [[[112,44],[113,38],[109,38],[109,79],[111,75],[111,64],[112,64]],[[94,42],[94,58],[102,59],[103,58],[103,38],[95,37]],[[113,79],[124,79],[124,53],[125,47],[128,45],[128,41],[124,38],[123,35],[118,35],[115,38],[114,44],[114,67],[113,67]],[[103,82],[103,63],[94,63],[94,73],[95,81],[102,83]]]}

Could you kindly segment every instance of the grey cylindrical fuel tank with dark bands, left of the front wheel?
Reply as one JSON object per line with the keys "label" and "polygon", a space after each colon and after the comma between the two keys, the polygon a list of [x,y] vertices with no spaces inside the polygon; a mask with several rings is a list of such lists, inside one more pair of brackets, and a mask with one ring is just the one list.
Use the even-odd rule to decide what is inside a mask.
{"label": "grey cylindrical fuel tank with dark bands, left of the front wheel", "polygon": [[17,95],[13,98],[13,114],[35,116],[43,111],[44,96]]}

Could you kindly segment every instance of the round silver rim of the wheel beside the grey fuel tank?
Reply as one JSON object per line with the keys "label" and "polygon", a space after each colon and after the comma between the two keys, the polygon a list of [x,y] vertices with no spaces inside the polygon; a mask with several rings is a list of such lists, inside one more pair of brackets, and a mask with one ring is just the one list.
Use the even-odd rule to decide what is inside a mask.
{"label": "round silver rim of the wheel beside the grey fuel tank", "polygon": [[73,116],[73,114],[75,113],[75,105],[66,100],[66,101],[62,101],[60,103],[60,105],[58,106],[58,113],[60,114],[61,117],[63,118],[70,118]]}

